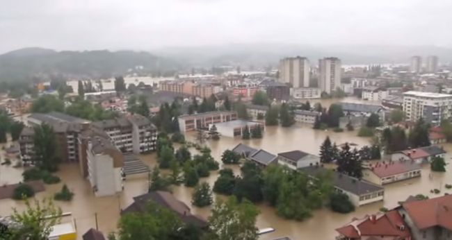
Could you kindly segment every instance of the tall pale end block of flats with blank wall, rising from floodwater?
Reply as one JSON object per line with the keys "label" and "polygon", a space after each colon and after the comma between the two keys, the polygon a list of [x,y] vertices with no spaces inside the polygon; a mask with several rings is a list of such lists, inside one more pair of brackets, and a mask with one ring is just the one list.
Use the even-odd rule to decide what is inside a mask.
{"label": "tall pale end block of flats with blank wall, rising from floodwater", "polygon": [[122,191],[124,157],[109,139],[94,137],[86,149],[88,180],[95,196],[111,196]]}

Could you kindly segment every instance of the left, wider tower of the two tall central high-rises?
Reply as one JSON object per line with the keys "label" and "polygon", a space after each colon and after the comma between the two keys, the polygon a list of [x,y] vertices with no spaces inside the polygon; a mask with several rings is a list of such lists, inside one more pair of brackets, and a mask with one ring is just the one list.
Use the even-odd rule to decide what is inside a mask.
{"label": "left, wider tower of the two tall central high-rises", "polygon": [[280,60],[280,82],[292,87],[309,87],[309,60],[297,56]]}

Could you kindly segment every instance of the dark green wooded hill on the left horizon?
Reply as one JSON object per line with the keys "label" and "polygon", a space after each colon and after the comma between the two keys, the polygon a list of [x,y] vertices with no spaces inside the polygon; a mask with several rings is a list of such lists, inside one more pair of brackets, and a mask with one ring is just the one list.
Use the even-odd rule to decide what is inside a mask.
{"label": "dark green wooded hill on the left horizon", "polygon": [[179,62],[136,51],[54,51],[27,48],[0,55],[0,81],[29,80],[51,75],[65,78],[108,78],[143,66],[140,73],[173,71]]}

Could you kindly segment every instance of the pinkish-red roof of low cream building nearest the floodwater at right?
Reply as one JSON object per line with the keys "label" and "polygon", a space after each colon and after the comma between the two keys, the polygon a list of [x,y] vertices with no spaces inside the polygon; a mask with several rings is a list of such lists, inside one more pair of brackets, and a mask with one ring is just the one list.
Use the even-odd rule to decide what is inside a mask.
{"label": "pinkish-red roof of low cream building nearest the floodwater at right", "polygon": [[406,173],[417,169],[420,170],[421,166],[412,161],[392,161],[386,163],[379,162],[376,165],[371,165],[371,171],[378,175],[378,177],[380,178],[385,178],[400,173]]}

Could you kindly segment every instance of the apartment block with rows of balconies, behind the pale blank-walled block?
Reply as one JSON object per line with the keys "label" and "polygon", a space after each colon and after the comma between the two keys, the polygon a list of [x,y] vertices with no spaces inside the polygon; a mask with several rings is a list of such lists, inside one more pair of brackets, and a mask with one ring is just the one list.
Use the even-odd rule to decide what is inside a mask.
{"label": "apartment block with rows of balconies, behind the pale blank-walled block", "polygon": [[97,121],[92,125],[104,130],[122,152],[138,154],[156,149],[157,129],[139,114]]}

